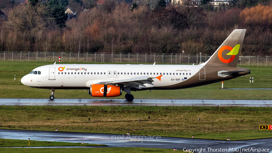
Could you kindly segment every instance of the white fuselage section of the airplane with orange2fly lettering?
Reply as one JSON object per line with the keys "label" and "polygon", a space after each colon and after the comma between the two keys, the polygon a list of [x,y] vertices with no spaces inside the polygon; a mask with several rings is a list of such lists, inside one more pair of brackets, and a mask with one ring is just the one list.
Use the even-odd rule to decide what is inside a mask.
{"label": "white fuselage section of the airplane with orange2fly lettering", "polygon": [[[146,87],[140,87],[142,90],[158,87],[164,89],[164,86],[188,80],[199,73],[202,67],[203,65],[53,64],[35,68],[33,71],[37,71],[37,74],[28,74],[21,82],[26,86],[44,89],[89,89],[90,85],[102,81],[162,75],[161,81],[155,78],[153,85],[145,84]],[[182,86],[174,89],[181,88]]]}

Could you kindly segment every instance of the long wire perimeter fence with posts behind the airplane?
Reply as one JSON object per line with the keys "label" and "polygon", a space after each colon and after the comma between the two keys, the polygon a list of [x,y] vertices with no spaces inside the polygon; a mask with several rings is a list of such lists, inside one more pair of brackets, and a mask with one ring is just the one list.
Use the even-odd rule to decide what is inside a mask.
{"label": "long wire perimeter fence with posts behind the airplane", "polygon": [[[66,52],[9,52],[0,51],[0,61],[60,61],[115,62],[115,63],[172,63],[199,64],[211,54],[159,54],[159,53],[66,53]],[[238,66],[272,66],[272,56],[240,56]]]}

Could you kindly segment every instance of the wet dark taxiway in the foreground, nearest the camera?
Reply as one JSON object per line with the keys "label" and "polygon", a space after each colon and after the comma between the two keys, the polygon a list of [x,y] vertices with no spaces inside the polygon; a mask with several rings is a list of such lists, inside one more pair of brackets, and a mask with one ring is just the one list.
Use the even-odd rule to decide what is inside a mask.
{"label": "wet dark taxiway in the foreground, nearest the camera", "polygon": [[[38,140],[38,141],[58,141],[58,142],[84,142],[92,144],[105,144],[107,147],[143,147],[143,148],[167,148],[178,150],[203,149],[201,152],[234,152],[241,149],[266,149],[272,151],[272,138],[245,141],[220,141],[206,140],[197,138],[173,138],[159,136],[141,136],[141,135],[112,135],[99,133],[78,133],[78,132],[60,132],[60,131],[29,131],[29,130],[5,130],[0,129],[0,138]],[[221,151],[220,151],[221,149]],[[243,151],[244,149],[244,151]],[[268,150],[269,149],[269,150]],[[212,150],[212,151],[211,151]],[[195,151],[199,152],[199,151]]]}

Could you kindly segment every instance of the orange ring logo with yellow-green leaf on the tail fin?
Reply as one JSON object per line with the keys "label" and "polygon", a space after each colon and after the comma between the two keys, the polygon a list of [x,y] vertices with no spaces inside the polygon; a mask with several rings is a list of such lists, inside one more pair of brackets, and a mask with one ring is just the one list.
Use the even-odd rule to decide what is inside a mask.
{"label": "orange ring logo with yellow-green leaf on the tail fin", "polygon": [[[240,44],[237,44],[234,48],[232,48],[230,46],[223,46],[223,47],[221,47],[219,49],[219,51],[218,51],[218,58],[219,58],[219,60],[221,60],[221,62],[223,62],[223,63],[230,63],[230,62],[232,62],[234,60],[234,58],[235,58],[235,55],[238,54],[239,48],[240,48]],[[224,50],[226,50],[226,49],[230,50],[230,52],[228,54],[226,54],[226,55],[232,55],[229,59],[225,59],[225,58],[222,57],[222,52]]]}

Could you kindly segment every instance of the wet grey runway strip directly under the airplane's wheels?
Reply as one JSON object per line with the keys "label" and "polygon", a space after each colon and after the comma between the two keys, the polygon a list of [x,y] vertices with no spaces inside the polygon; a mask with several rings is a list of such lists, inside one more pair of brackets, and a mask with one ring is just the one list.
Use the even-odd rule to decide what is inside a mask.
{"label": "wet grey runway strip directly under the airplane's wheels", "polygon": [[272,107],[272,100],[222,99],[0,99],[0,105],[48,106],[248,106]]}

